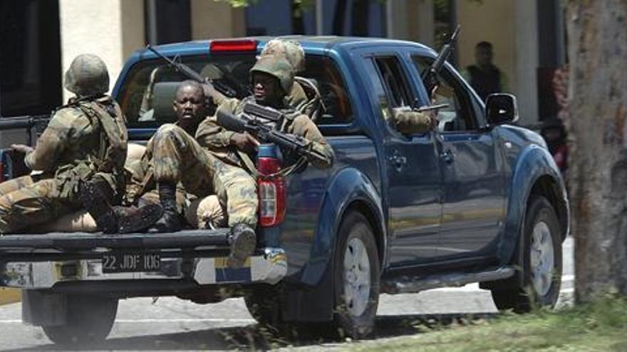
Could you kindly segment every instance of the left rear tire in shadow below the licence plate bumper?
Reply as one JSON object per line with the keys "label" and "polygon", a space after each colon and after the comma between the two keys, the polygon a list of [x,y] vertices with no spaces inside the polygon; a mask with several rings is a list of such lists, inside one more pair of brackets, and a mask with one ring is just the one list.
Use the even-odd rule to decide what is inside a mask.
{"label": "left rear tire in shadow below the licence plate bumper", "polygon": [[117,312],[115,298],[68,296],[67,324],[42,326],[43,332],[53,343],[63,346],[101,343],[109,335]]}

